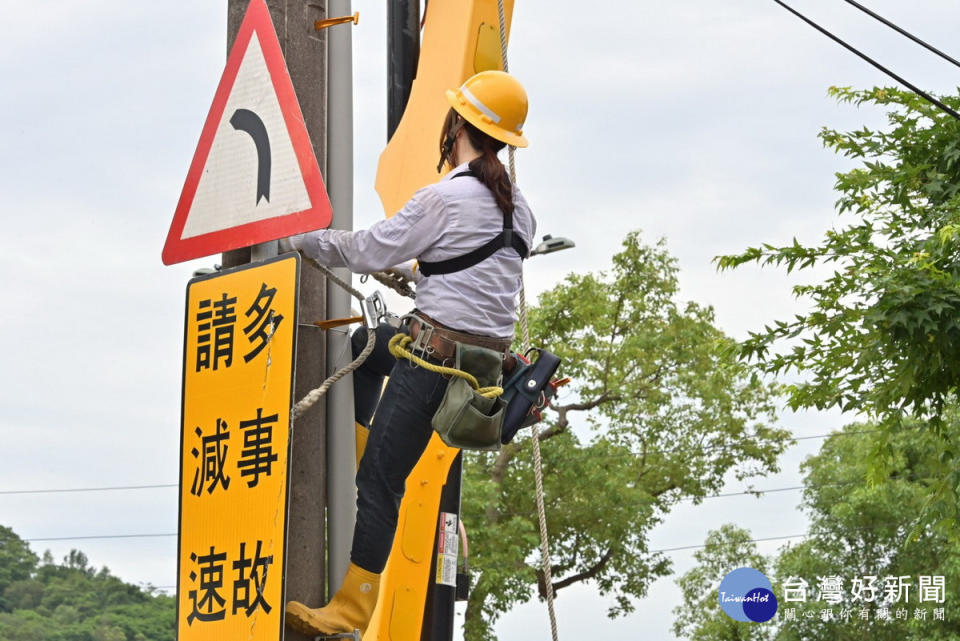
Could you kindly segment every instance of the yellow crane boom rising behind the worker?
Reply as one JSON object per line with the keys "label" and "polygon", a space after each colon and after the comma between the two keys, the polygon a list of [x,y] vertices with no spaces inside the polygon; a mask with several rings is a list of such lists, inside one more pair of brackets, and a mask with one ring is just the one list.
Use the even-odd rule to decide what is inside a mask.
{"label": "yellow crane boom rising behind the worker", "polygon": [[[513,0],[504,0],[509,34]],[[403,118],[380,155],[376,190],[389,217],[436,182],[439,137],[449,109],[444,91],[475,73],[503,69],[497,0],[429,0],[416,79]],[[380,598],[364,635],[370,641],[421,638],[431,562],[437,553],[440,497],[458,450],[430,440],[407,479]]]}

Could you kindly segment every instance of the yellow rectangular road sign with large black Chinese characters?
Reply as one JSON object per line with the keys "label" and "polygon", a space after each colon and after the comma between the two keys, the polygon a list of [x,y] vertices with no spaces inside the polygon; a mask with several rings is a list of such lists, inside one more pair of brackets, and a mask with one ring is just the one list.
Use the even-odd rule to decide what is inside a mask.
{"label": "yellow rectangular road sign with large black Chinese characters", "polygon": [[282,638],[299,282],[289,254],[187,286],[179,641]]}

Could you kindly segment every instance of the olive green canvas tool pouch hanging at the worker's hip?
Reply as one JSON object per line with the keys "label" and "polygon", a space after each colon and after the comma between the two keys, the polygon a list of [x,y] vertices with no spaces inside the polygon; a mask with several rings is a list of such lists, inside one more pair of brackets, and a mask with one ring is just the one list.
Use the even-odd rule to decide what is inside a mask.
{"label": "olive green canvas tool pouch hanging at the worker's hip", "polygon": [[[480,387],[499,384],[502,366],[503,355],[499,352],[457,344],[455,367],[472,374]],[[496,451],[500,449],[505,408],[499,397],[481,396],[465,379],[454,376],[433,415],[433,429],[450,447]]]}

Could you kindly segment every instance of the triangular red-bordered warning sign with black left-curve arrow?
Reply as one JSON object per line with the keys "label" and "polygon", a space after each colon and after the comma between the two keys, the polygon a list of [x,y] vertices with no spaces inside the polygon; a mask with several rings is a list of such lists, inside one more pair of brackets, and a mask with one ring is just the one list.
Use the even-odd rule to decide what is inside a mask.
{"label": "triangular red-bordered warning sign with black left-curve arrow", "polygon": [[327,227],[330,199],[264,0],[251,0],[163,248],[166,265]]}

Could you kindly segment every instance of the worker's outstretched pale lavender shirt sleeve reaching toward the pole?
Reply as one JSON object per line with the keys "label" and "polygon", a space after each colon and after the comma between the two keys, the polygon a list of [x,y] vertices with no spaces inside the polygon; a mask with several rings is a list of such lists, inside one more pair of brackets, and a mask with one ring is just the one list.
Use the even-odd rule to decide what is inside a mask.
{"label": "worker's outstretched pale lavender shirt sleeve reaching toward the pole", "polygon": [[425,187],[393,217],[369,229],[321,229],[306,234],[299,245],[304,254],[322,265],[367,274],[419,256],[440,237],[447,217],[443,199]]}

